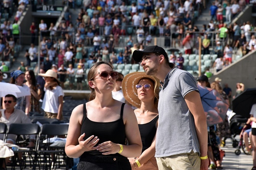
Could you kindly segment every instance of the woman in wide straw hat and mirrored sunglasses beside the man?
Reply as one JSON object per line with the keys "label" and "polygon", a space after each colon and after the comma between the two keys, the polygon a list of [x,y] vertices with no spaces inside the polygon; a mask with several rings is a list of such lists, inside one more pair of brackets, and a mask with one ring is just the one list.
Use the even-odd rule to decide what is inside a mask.
{"label": "woman in wide straw hat and mirrored sunglasses beside the man", "polygon": [[154,156],[158,126],[159,87],[160,81],[145,72],[133,72],[123,79],[122,89],[126,101],[138,108],[134,112],[143,144],[142,154],[129,159],[132,169],[158,170]]}

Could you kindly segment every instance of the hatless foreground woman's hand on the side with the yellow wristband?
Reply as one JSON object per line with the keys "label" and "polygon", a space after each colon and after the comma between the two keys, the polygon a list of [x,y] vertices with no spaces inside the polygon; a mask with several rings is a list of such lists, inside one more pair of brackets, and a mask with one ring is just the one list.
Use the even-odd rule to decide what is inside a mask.
{"label": "hatless foreground woman's hand on the side with the yellow wristband", "polygon": [[109,155],[109,154],[115,154],[120,151],[120,145],[115,144],[112,141],[107,141],[104,143],[101,143],[97,146],[97,150],[102,153],[102,155]]}

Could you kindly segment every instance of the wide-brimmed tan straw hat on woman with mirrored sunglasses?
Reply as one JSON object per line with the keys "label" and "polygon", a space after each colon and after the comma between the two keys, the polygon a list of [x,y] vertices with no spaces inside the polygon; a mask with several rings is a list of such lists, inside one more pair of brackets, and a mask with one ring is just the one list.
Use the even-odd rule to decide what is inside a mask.
{"label": "wide-brimmed tan straw hat on woman with mirrored sunglasses", "polygon": [[159,99],[159,91],[160,91],[160,81],[153,75],[147,75],[145,72],[132,72],[127,74],[123,78],[122,82],[122,90],[123,96],[125,97],[126,101],[128,101],[133,106],[140,108],[141,101],[138,98],[137,89],[135,85],[139,83],[141,79],[151,79],[154,82],[154,94],[155,94],[155,101],[154,104],[157,107],[158,99]]}

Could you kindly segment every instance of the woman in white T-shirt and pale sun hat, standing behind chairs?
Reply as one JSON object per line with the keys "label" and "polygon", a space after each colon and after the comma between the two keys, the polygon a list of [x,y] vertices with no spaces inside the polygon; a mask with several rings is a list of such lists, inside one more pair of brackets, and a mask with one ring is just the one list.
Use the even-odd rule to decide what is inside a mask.
{"label": "woman in white T-shirt and pale sun hat, standing behind chairs", "polygon": [[44,117],[51,119],[63,120],[63,96],[64,92],[60,87],[60,81],[57,78],[57,73],[53,70],[48,70],[44,74],[38,74],[44,77],[44,99],[42,109],[45,114]]}

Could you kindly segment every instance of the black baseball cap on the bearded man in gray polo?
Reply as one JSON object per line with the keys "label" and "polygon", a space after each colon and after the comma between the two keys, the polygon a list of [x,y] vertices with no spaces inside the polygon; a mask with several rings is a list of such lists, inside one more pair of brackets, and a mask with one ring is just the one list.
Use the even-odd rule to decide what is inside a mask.
{"label": "black baseball cap on the bearded man in gray polo", "polygon": [[164,48],[158,47],[157,45],[148,46],[143,51],[135,50],[133,51],[133,59],[134,61],[140,62],[142,60],[142,56],[144,53],[160,53],[161,55],[164,55],[164,58],[169,61],[167,53],[165,52]]}

